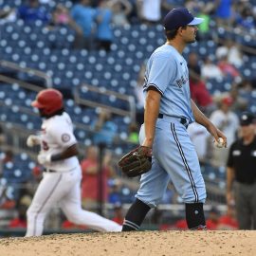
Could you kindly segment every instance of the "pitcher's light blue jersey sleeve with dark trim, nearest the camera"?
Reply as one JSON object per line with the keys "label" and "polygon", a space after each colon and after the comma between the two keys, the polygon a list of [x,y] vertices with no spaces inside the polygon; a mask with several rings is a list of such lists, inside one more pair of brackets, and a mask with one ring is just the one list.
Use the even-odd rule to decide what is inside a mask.
{"label": "pitcher's light blue jersey sleeve with dark trim, nearest the camera", "polygon": [[168,56],[155,55],[150,68],[146,90],[150,86],[154,86],[163,95],[168,84],[174,80],[175,69],[174,59],[170,59]]}

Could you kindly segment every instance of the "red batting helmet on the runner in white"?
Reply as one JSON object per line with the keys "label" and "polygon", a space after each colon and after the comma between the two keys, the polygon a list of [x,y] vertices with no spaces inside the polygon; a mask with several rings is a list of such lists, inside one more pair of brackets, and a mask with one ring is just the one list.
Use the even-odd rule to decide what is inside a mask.
{"label": "red batting helmet on the runner in white", "polygon": [[46,116],[54,114],[64,107],[63,94],[56,89],[45,89],[39,92],[32,106],[39,108]]}

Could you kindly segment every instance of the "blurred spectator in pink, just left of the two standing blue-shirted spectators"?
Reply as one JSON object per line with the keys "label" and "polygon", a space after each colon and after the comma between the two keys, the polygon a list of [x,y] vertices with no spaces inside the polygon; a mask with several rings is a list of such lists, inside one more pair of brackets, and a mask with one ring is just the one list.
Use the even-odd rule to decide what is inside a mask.
{"label": "blurred spectator in pink, just left of the two standing blue-shirted spectators", "polygon": [[79,35],[82,36],[82,27],[78,26],[76,22],[71,18],[69,10],[62,4],[58,4],[52,12],[50,27],[68,26]]}

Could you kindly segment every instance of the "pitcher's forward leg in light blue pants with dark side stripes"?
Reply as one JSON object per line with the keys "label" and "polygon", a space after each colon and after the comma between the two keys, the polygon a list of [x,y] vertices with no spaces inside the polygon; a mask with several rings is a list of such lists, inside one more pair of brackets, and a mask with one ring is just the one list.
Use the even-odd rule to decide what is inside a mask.
{"label": "pitcher's forward leg in light blue pants with dark side stripes", "polygon": [[155,155],[170,174],[175,190],[185,203],[189,229],[205,229],[203,203],[206,200],[206,189],[192,141],[185,127],[178,121],[162,121],[160,125],[162,132],[156,137],[162,146],[158,147]]}

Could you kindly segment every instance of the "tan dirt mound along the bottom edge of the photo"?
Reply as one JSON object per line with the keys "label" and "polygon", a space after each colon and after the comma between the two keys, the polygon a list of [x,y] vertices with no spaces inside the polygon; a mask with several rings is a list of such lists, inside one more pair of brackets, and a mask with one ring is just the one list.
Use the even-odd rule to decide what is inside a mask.
{"label": "tan dirt mound along the bottom edge of the photo", "polygon": [[255,255],[256,231],[141,231],[0,240],[1,256]]}

